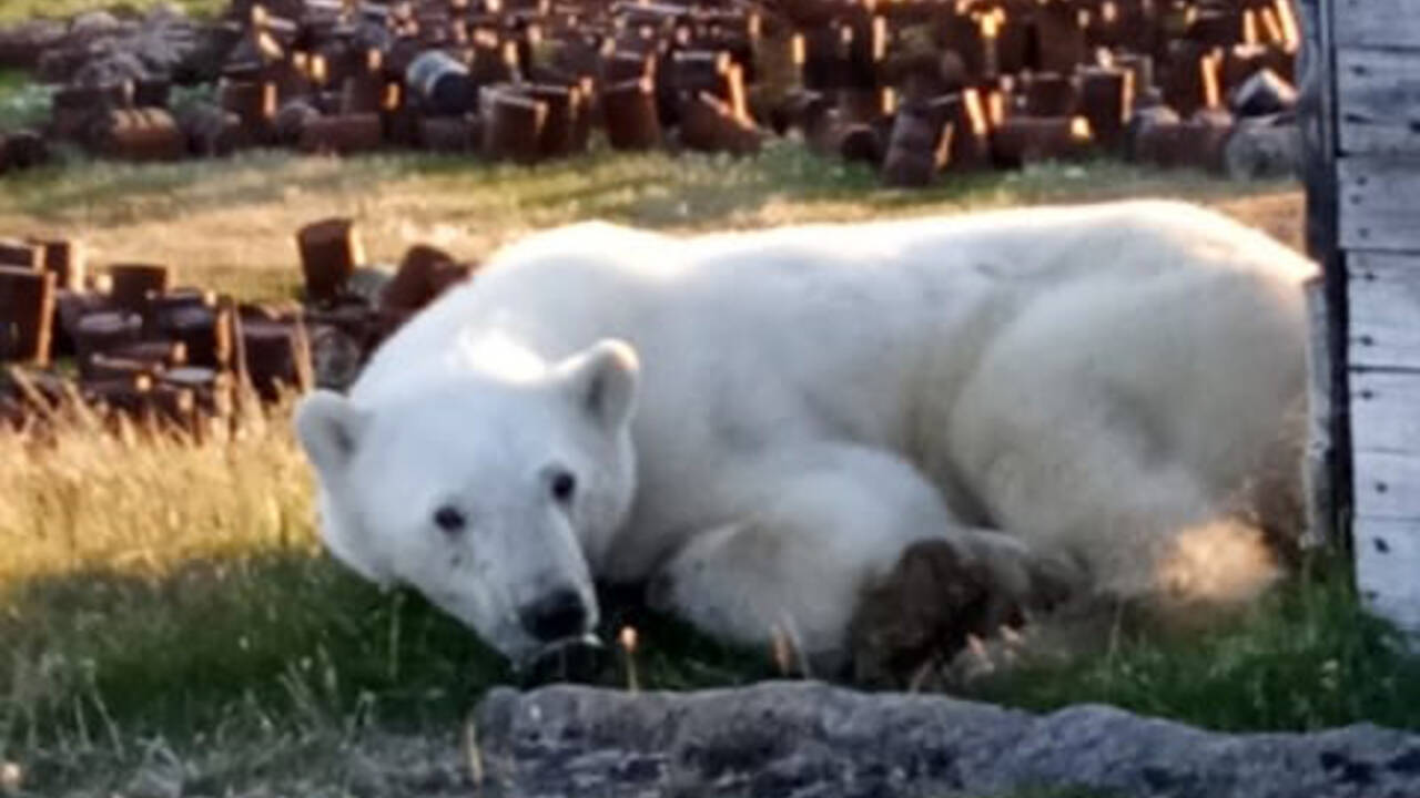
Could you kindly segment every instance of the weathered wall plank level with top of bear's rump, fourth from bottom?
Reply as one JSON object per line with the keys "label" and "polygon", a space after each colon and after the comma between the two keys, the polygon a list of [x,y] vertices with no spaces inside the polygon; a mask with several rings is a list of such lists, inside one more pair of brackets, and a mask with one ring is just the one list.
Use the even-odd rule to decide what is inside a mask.
{"label": "weathered wall plank level with top of bear's rump, fourth from bottom", "polygon": [[1352,253],[1346,274],[1350,368],[1420,371],[1420,254]]}

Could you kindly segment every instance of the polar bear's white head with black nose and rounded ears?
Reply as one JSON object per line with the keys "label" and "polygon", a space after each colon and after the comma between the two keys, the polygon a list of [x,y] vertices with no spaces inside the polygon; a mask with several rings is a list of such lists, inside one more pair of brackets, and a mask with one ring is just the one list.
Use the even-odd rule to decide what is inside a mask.
{"label": "polar bear's white head with black nose and rounded ears", "polygon": [[295,412],[332,554],[405,584],[514,663],[598,621],[584,544],[635,491],[635,351],[602,341],[517,376],[447,371],[361,403],[317,390]]}

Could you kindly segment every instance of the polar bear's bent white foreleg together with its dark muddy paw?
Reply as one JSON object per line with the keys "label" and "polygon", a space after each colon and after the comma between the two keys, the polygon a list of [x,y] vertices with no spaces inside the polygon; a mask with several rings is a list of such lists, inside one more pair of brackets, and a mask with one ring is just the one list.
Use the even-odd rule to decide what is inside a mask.
{"label": "polar bear's bent white foreleg together with its dark muddy paw", "polygon": [[994,630],[1066,584],[1020,541],[960,525],[893,454],[816,446],[736,473],[743,510],[692,538],[650,589],[717,638],[873,670]]}

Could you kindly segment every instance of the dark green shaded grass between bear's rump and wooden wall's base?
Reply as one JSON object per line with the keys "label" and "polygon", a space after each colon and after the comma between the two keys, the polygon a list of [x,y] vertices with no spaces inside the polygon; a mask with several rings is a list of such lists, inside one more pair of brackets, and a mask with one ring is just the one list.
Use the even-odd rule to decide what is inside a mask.
{"label": "dark green shaded grass between bear's rump and wooden wall's base", "polygon": [[991,677],[971,697],[1041,711],[1106,703],[1218,731],[1420,730],[1420,657],[1358,603],[1350,568],[1326,558],[1233,622],[1122,632],[1103,656]]}

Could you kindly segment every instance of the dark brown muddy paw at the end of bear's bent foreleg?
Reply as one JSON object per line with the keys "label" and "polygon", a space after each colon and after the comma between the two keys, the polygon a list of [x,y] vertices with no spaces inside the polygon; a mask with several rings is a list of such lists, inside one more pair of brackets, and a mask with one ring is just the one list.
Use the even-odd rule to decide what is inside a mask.
{"label": "dark brown muddy paw at the end of bear's bent foreleg", "polygon": [[848,630],[853,680],[910,684],[956,656],[968,636],[1021,621],[1010,591],[993,585],[990,569],[964,547],[949,540],[916,542],[859,599]]}

